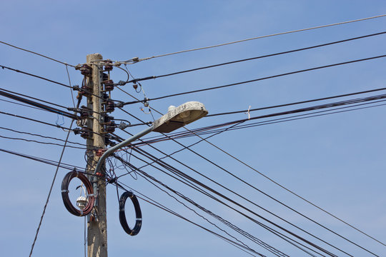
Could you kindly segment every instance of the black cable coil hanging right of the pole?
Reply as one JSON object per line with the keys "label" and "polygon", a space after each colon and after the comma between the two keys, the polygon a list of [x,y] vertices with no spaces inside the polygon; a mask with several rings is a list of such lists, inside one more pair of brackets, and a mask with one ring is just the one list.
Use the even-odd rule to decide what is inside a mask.
{"label": "black cable coil hanging right of the pole", "polygon": [[[127,225],[126,215],[124,214],[124,205],[128,197],[132,199],[132,203],[134,205],[134,210],[135,210],[135,216],[136,216],[135,226],[133,229],[130,229],[129,225]],[[137,196],[135,196],[134,193],[132,192],[122,193],[122,196],[119,199],[119,221],[121,222],[121,225],[124,231],[128,233],[130,236],[137,235],[141,230],[141,226],[142,226],[141,207],[139,206]]]}

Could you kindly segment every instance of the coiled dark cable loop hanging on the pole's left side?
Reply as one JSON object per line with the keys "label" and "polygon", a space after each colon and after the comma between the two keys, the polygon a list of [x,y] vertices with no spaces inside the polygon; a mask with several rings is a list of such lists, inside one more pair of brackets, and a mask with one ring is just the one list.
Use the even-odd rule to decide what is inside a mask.
{"label": "coiled dark cable loop hanging on the pole's left side", "polygon": [[[87,203],[82,210],[75,208],[75,206],[72,205],[69,199],[69,183],[71,182],[72,178],[79,178],[80,181],[86,187]],[[94,207],[95,196],[91,182],[88,178],[86,178],[86,176],[84,176],[84,173],[78,172],[75,169],[74,171],[66,173],[66,176],[64,176],[63,181],[61,182],[61,198],[63,198],[63,203],[67,211],[69,211],[69,213],[71,214],[74,214],[75,216],[86,216],[91,212],[92,208]]]}

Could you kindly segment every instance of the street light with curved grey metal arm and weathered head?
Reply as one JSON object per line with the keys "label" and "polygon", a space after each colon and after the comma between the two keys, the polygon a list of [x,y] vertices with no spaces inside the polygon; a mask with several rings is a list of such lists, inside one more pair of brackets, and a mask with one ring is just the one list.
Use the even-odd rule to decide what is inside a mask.
{"label": "street light with curved grey metal arm and weathered head", "polygon": [[167,111],[167,114],[157,119],[157,121],[154,121],[152,126],[149,126],[149,128],[145,129],[144,131],[137,133],[131,138],[128,138],[125,141],[122,141],[121,143],[118,143],[117,145],[105,151],[101,158],[99,158],[97,168],[95,168],[94,173],[99,173],[99,170],[102,167],[102,163],[104,163],[106,158],[109,157],[112,153],[114,153],[114,151],[117,151],[118,149],[123,148],[124,146],[128,146],[130,143],[132,143],[132,141],[137,140],[138,138],[146,135],[147,133],[150,133],[152,131],[156,131],[159,133],[169,133],[181,128],[182,126],[192,123],[193,121],[197,121],[198,119],[201,119],[207,114],[208,111],[207,109],[205,109],[204,104],[201,104],[197,101],[189,101],[177,107],[170,106],[169,110]]}

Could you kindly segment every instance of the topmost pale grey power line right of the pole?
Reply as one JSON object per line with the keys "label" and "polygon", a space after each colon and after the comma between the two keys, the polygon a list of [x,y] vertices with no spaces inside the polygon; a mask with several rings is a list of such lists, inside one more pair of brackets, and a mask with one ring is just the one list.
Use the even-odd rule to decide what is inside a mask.
{"label": "topmost pale grey power line right of the pole", "polygon": [[147,58],[143,58],[143,59],[134,58],[134,59],[130,59],[130,60],[127,60],[127,61],[117,61],[117,62],[121,63],[121,64],[125,64],[125,63],[126,64],[132,64],[132,63],[135,63],[135,62],[138,62],[138,61],[145,61],[145,60],[149,60],[149,59],[154,59],[154,58],[159,58],[159,57],[164,57],[164,56],[170,56],[170,55],[174,55],[174,54],[182,54],[182,53],[187,53],[189,51],[198,51],[198,50],[203,50],[203,49],[211,49],[211,48],[214,48],[214,47],[227,46],[229,44],[237,44],[237,43],[240,43],[240,42],[250,41],[250,40],[254,40],[254,39],[263,39],[263,38],[267,38],[267,37],[271,37],[271,36],[279,36],[279,35],[284,35],[284,34],[296,33],[296,32],[300,32],[300,31],[308,31],[308,30],[312,30],[312,29],[321,29],[321,28],[326,28],[326,27],[329,27],[329,26],[337,26],[337,25],[342,25],[342,24],[349,24],[349,23],[357,22],[357,21],[365,21],[365,20],[369,20],[369,19],[377,19],[377,18],[380,18],[380,17],[383,17],[383,16],[386,16],[386,14],[381,14],[381,15],[377,15],[377,16],[367,17],[367,18],[363,18],[363,19],[355,19],[355,20],[351,20],[351,21],[342,21],[342,22],[337,22],[335,24],[327,24],[327,25],[322,25],[322,26],[314,26],[314,27],[310,27],[310,28],[307,28],[307,29],[297,29],[297,30],[292,30],[292,31],[280,32],[280,33],[276,33],[276,34],[269,34],[269,35],[265,35],[265,36],[256,36],[256,37],[253,37],[253,38],[250,38],[250,39],[242,39],[242,40],[232,41],[232,42],[228,42],[228,43],[224,43],[224,44],[217,44],[217,45],[214,45],[214,46],[204,46],[204,47],[199,47],[199,48],[196,48],[196,49],[176,51],[176,52],[169,53],[169,54],[161,54],[161,55],[151,56],[151,57],[147,57]]}

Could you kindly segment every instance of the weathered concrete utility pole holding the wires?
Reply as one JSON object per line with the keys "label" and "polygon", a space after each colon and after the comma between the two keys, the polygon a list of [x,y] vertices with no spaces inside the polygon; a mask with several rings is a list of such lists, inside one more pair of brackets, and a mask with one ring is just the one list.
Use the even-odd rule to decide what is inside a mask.
{"label": "weathered concrete utility pole holding the wires", "polygon": [[[102,68],[98,65],[91,65],[91,63],[101,59],[101,54],[89,54],[86,57],[87,64],[92,68],[92,76],[91,79],[86,80],[86,86],[91,88],[92,93],[97,96],[102,96]],[[87,139],[87,148],[89,149],[104,148],[105,146],[104,137],[99,136],[102,134],[102,99],[97,96],[91,96],[87,101],[87,107],[93,111],[93,119],[89,119],[88,127],[96,132],[92,133],[92,139]],[[95,151],[90,151],[89,153],[95,153]],[[89,170],[94,171],[98,160],[99,157],[95,154],[89,157]],[[104,170],[103,164],[103,173]],[[89,222],[87,224],[87,253],[89,257],[107,257],[106,185],[102,179],[96,176],[91,176],[90,179],[94,183],[94,193],[96,193],[97,196],[96,206],[93,211],[94,216],[89,216]]]}

